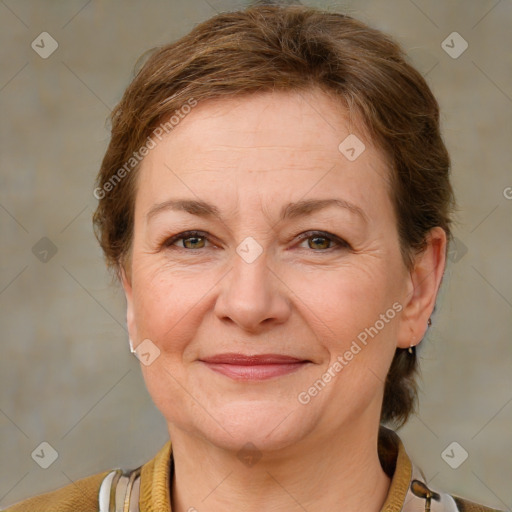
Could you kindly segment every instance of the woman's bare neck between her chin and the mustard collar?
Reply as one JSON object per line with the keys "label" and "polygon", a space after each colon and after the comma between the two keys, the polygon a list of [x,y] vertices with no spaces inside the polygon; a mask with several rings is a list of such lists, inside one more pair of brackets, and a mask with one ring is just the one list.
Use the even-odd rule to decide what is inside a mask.
{"label": "woman's bare neck between her chin and the mustard collar", "polygon": [[379,512],[389,490],[377,452],[378,425],[264,452],[254,464],[182,430],[170,428],[170,434],[173,512]]}

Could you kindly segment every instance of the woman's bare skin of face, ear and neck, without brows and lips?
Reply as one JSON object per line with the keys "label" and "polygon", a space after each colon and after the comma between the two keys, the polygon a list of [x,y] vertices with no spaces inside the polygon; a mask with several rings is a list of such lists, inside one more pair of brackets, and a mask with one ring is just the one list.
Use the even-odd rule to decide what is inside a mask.
{"label": "woman's bare skin of face, ear and neck, without brows and lips", "polygon": [[[349,134],[366,146],[355,161],[338,149]],[[409,272],[384,156],[317,90],[199,103],[139,172],[123,287],[134,346],[149,339],[160,350],[141,368],[173,441],[173,511],[380,510],[389,488],[377,456],[384,380],[396,347],[426,331],[445,232],[431,231]],[[331,198],[361,208],[366,222],[335,206],[279,219],[290,202]],[[220,218],[168,209],[147,221],[169,199],[206,201]],[[165,246],[186,230],[207,238]],[[299,239],[310,230],[350,247],[321,235]],[[236,251],[247,237],[262,249],[251,263]],[[300,403],[298,395],[396,302],[401,312]],[[242,382],[199,361],[224,352],[310,363]],[[246,443],[261,457],[255,464],[238,456]]]}

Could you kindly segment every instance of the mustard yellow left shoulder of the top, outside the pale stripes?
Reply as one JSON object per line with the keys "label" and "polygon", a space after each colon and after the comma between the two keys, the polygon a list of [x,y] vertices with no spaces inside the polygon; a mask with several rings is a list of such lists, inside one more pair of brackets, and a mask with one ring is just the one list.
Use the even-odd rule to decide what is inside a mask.
{"label": "mustard yellow left shoulder of the top, outside the pale stripes", "polygon": [[82,478],[55,491],[39,494],[4,512],[98,512],[98,492],[109,471]]}

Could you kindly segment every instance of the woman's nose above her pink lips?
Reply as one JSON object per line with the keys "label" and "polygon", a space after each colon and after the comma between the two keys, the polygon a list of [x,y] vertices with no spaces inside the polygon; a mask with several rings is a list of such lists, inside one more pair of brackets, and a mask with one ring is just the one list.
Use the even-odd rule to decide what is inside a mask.
{"label": "woman's nose above her pink lips", "polygon": [[222,280],[215,313],[223,322],[232,322],[244,331],[261,332],[290,316],[287,291],[279,273],[269,268],[265,251],[254,261],[246,261],[235,252],[232,269]]}

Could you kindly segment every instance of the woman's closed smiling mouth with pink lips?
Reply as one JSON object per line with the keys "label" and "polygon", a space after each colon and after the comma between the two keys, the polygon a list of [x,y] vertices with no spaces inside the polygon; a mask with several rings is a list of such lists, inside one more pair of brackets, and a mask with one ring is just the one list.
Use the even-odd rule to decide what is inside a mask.
{"label": "woman's closed smiling mouth with pink lips", "polygon": [[217,354],[200,359],[210,370],[234,380],[257,381],[282,377],[296,372],[311,363],[282,354]]}

